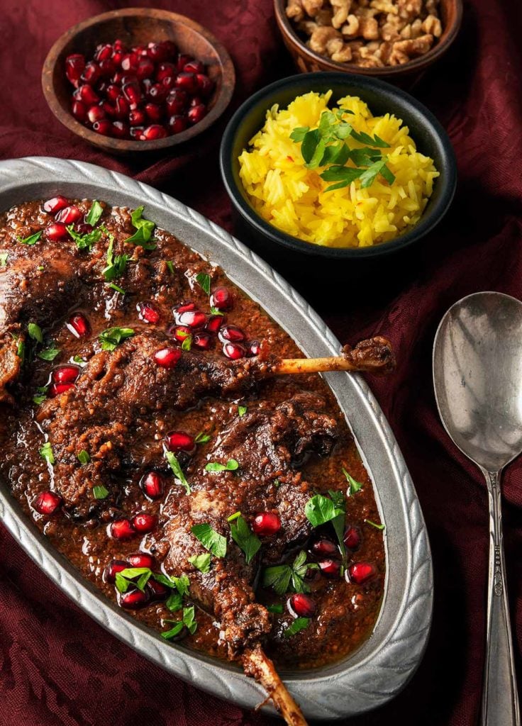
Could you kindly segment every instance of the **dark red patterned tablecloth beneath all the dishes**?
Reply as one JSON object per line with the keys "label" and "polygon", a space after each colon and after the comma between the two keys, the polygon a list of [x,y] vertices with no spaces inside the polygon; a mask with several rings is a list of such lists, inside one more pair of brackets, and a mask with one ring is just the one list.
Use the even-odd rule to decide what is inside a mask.
{"label": "dark red patterned tablecloth beneath all the dishes", "polygon": [[[147,5],[149,3],[138,3]],[[272,0],[158,0],[207,25],[237,69],[233,105],[293,72]],[[62,128],[41,94],[41,65],[55,38],[90,15],[123,6],[102,0],[2,0],[1,158],[49,155],[97,163],[178,197],[227,229],[231,209],[217,166],[220,127],[205,158],[150,166],[94,150]],[[457,46],[413,92],[449,131],[460,182],[452,211],[415,263],[388,266],[390,285],[331,289],[294,270],[293,282],[341,340],[387,335],[400,362],[372,388],[412,473],[428,524],[435,571],[433,631],[401,695],[356,725],[471,726],[484,656],[486,490],[444,433],[433,400],[436,325],[458,298],[500,290],[522,298],[522,5],[465,4]],[[176,173],[177,172],[177,173]],[[302,273],[302,274],[301,274]],[[393,284],[395,283],[395,284]],[[522,462],[504,479],[505,547],[518,674],[522,675]],[[0,526],[0,726],[261,726],[272,722],[218,701],[152,666],[107,635],[38,571]]]}

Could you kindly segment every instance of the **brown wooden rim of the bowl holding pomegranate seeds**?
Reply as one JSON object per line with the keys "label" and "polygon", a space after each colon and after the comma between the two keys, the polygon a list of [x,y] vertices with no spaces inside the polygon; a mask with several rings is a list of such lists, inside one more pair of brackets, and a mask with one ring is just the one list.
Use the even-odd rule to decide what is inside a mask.
{"label": "brown wooden rim of the bowl holding pomegranate seeds", "polygon": [[[200,36],[203,36],[208,41],[213,49],[215,50],[219,63],[221,65],[221,77],[229,79],[229,83],[225,85],[221,84],[219,95],[216,97],[216,103],[213,105],[209,113],[200,121],[191,126],[189,129],[182,131],[180,134],[174,134],[174,136],[166,136],[164,139],[155,139],[153,141],[131,141],[129,139],[115,139],[113,136],[104,136],[103,134],[97,134],[96,131],[91,131],[83,123],[76,121],[73,114],[70,111],[65,111],[57,98],[57,94],[54,91],[53,74],[54,67],[57,63],[60,54],[62,54],[65,45],[68,44],[71,39],[78,36],[79,33],[90,28],[91,25],[97,25],[104,23],[107,20],[115,20],[118,17],[155,17],[162,20],[168,20],[168,22],[179,25],[185,25],[191,30],[195,30]],[[118,152],[147,152],[155,151],[160,149],[168,149],[170,147],[178,146],[184,142],[194,139],[195,136],[201,134],[203,131],[208,129],[224,110],[229,105],[232,99],[232,94],[235,89],[235,69],[232,63],[232,58],[229,52],[225,48],[224,44],[221,43],[210,30],[207,30],[200,23],[196,23],[195,20],[185,15],[179,15],[176,12],[170,12],[168,10],[155,9],[155,8],[139,8],[139,7],[127,7],[119,10],[110,10],[109,12],[103,12],[99,15],[93,15],[82,20],[81,23],[72,25],[65,33],[62,33],[60,38],[54,42],[52,48],[46,56],[44,66],[41,73],[41,85],[44,91],[44,97],[46,99],[49,108],[52,113],[56,116],[58,121],[66,126],[74,134],[81,136],[87,142],[94,144],[94,146],[102,147],[109,151]]]}

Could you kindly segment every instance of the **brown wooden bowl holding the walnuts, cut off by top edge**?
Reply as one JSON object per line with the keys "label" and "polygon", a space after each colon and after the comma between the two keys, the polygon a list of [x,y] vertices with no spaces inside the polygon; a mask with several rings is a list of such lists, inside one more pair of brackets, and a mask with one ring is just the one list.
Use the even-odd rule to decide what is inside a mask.
{"label": "brown wooden bowl holding the walnuts, cut off by top edge", "polygon": [[384,68],[361,68],[354,63],[338,63],[330,58],[319,55],[309,49],[306,42],[299,36],[298,30],[287,17],[285,8],[287,0],[274,0],[277,26],[280,29],[285,46],[290,51],[295,65],[301,73],[317,70],[336,70],[345,73],[361,73],[362,76],[374,76],[395,83],[406,78],[419,75],[447,51],[457,37],[462,21],[462,0],[440,0],[442,35],[431,50],[404,65],[386,65]]}

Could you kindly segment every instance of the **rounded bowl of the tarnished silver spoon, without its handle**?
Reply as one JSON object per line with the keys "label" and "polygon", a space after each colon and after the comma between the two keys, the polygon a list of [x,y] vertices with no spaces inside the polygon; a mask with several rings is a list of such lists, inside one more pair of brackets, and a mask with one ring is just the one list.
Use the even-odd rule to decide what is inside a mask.
{"label": "rounded bowl of the tarnished silver spoon, without its handle", "polygon": [[522,303],[476,293],[452,306],[433,348],[437,405],[449,436],[481,468],[522,452]]}

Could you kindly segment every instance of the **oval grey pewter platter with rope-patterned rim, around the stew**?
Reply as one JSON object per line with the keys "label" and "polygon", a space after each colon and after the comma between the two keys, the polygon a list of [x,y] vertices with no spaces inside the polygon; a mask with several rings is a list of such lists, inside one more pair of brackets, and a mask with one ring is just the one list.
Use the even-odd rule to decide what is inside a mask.
{"label": "oval grey pewter platter with rope-patterned rim, around the stew", "polygon": [[[219,264],[261,303],[306,356],[337,355],[340,343],[295,290],[235,237],[156,189],[105,168],[72,160],[30,157],[0,162],[0,209],[58,192],[145,205],[158,227]],[[393,433],[359,375],[325,375],[346,415],[386,523],[386,590],[372,636],[337,664],[283,672],[309,719],[340,719],[382,706],[399,693],[423,656],[431,624],[433,575],[428,535],[412,480]],[[166,671],[215,696],[253,708],[266,693],[232,664],[169,645],[107,600],[46,541],[0,482],[0,518],[39,567],[100,625]],[[264,706],[274,713],[269,704]]]}

